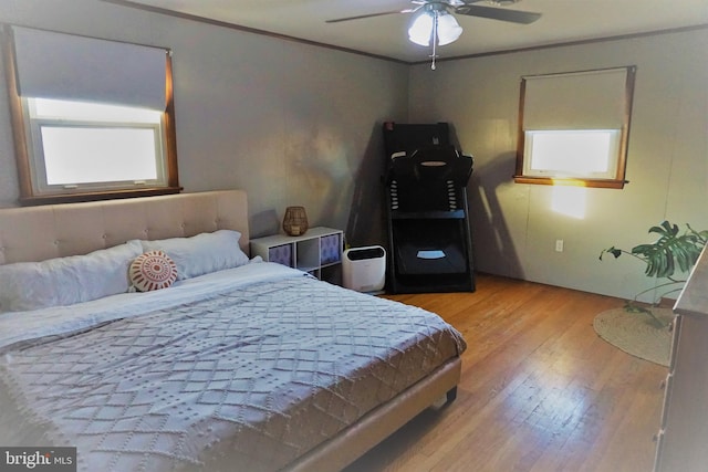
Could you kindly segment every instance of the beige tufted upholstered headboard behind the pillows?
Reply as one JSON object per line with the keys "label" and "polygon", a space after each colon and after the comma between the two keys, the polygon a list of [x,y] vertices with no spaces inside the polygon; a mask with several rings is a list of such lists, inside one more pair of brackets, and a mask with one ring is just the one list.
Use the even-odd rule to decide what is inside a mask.
{"label": "beige tufted upholstered headboard behind the pillows", "polygon": [[249,253],[243,190],[0,209],[0,264],[85,254],[132,239],[239,231]]}

